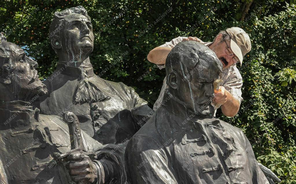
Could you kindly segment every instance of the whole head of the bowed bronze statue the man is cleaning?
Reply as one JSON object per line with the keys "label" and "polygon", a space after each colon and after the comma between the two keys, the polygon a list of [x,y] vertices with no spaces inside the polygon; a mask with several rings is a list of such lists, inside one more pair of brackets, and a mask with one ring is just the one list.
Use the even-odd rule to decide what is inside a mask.
{"label": "whole head of the bowed bronze statue the man is cleaning", "polygon": [[213,82],[222,72],[222,64],[207,46],[182,41],[165,61],[168,91],[197,115],[210,114],[214,97]]}

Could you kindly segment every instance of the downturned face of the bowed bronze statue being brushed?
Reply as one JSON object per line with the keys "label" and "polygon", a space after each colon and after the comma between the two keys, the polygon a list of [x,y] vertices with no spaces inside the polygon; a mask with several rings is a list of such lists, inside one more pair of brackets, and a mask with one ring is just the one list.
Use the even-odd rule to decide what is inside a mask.
{"label": "downturned face of the bowed bronze statue being brushed", "polygon": [[217,67],[209,65],[203,59],[218,60],[213,56],[200,57],[200,64],[191,71],[192,80],[190,82],[183,80],[178,89],[181,91],[181,100],[187,104],[188,108],[202,116],[210,114],[210,106],[214,97],[213,82],[219,78]]}

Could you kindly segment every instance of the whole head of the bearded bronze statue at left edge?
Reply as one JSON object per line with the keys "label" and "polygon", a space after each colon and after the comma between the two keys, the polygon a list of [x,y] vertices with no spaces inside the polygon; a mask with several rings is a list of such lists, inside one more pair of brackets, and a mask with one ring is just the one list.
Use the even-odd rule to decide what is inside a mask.
{"label": "whole head of the bearded bronze statue at left edge", "polygon": [[29,101],[45,95],[46,86],[38,78],[38,63],[26,56],[24,50],[6,41],[2,33],[0,43],[0,101]]}

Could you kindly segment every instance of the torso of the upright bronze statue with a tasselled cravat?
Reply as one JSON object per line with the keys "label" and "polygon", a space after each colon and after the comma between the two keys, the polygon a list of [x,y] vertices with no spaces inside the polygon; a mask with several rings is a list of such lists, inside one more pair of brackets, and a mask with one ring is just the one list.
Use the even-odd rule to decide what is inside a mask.
{"label": "torso of the upright bronze statue with a tasselled cravat", "polygon": [[74,112],[82,130],[102,144],[130,139],[144,124],[141,118],[151,111],[133,88],[96,76],[91,65],[81,70],[59,64],[44,84],[49,93],[40,104],[41,113]]}

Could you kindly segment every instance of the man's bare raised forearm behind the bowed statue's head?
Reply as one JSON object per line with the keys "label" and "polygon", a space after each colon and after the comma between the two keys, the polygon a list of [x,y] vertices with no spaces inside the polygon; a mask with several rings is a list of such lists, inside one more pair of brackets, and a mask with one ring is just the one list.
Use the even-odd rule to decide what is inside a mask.
{"label": "man's bare raised forearm behind the bowed statue's head", "polygon": [[151,63],[165,64],[165,60],[171,50],[172,48],[170,47],[156,47],[149,52],[147,59]]}

